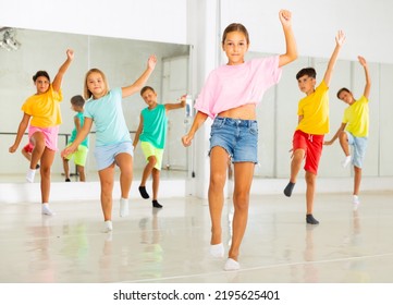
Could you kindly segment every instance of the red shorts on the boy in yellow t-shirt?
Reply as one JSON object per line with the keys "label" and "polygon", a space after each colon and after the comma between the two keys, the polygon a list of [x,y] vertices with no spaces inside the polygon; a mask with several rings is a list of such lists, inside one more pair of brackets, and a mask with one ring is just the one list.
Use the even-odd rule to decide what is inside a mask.
{"label": "red shorts on the boy in yellow t-shirt", "polygon": [[318,173],[319,160],[322,155],[324,135],[306,134],[302,131],[295,131],[293,136],[293,151],[304,149],[306,163],[304,169],[308,172]]}

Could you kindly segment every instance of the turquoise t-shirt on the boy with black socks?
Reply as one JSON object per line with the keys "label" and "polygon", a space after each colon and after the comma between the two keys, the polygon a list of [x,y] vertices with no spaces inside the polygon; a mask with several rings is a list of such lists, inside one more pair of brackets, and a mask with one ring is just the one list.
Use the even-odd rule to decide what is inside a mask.
{"label": "turquoise t-shirt on the boy with black socks", "polygon": [[144,119],[144,129],[139,136],[143,142],[149,142],[152,146],[163,149],[167,141],[168,118],[165,106],[157,105],[155,109],[145,108],[140,112]]}

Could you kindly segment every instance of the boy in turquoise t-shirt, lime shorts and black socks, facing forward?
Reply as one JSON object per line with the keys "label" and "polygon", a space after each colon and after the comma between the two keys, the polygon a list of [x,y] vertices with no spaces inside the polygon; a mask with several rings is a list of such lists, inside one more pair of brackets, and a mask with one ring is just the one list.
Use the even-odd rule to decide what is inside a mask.
{"label": "boy in turquoise t-shirt, lime shorts and black socks, facing forward", "polygon": [[145,199],[150,197],[146,192],[146,181],[151,174],[152,207],[162,208],[157,202],[157,197],[162,167],[162,155],[167,141],[167,112],[184,108],[186,105],[186,95],[180,98],[180,102],[159,105],[157,103],[157,93],[155,89],[146,86],[140,90],[140,96],[147,103],[147,107],[140,112],[139,126],[134,138],[134,149],[140,138],[140,148],[144,151],[147,164],[142,175],[139,193]]}

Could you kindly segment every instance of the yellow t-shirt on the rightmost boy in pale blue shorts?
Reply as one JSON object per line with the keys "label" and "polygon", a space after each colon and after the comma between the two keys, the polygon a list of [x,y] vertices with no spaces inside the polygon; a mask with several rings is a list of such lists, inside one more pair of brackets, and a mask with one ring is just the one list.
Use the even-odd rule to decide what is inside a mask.
{"label": "yellow t-shirt on the rightmost boy in pale blue shorts", "polygon": [[368,99],[365,96],[345,109],[343,123],[347,123],[345,130],[354,136],[368,136],[369,109]]}

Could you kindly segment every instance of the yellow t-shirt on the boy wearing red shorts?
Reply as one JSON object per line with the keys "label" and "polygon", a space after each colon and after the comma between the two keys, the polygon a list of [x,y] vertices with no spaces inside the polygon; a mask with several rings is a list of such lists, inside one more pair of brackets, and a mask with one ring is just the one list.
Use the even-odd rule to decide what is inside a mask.
{"label": "yellow t-shirt on the boy wearing red shorts", "polygon": [[297,115],[303,115],[303,120],[296,130],[315,135],[329,133],[329,87],[324,81],[312,94],[299,100]]}

